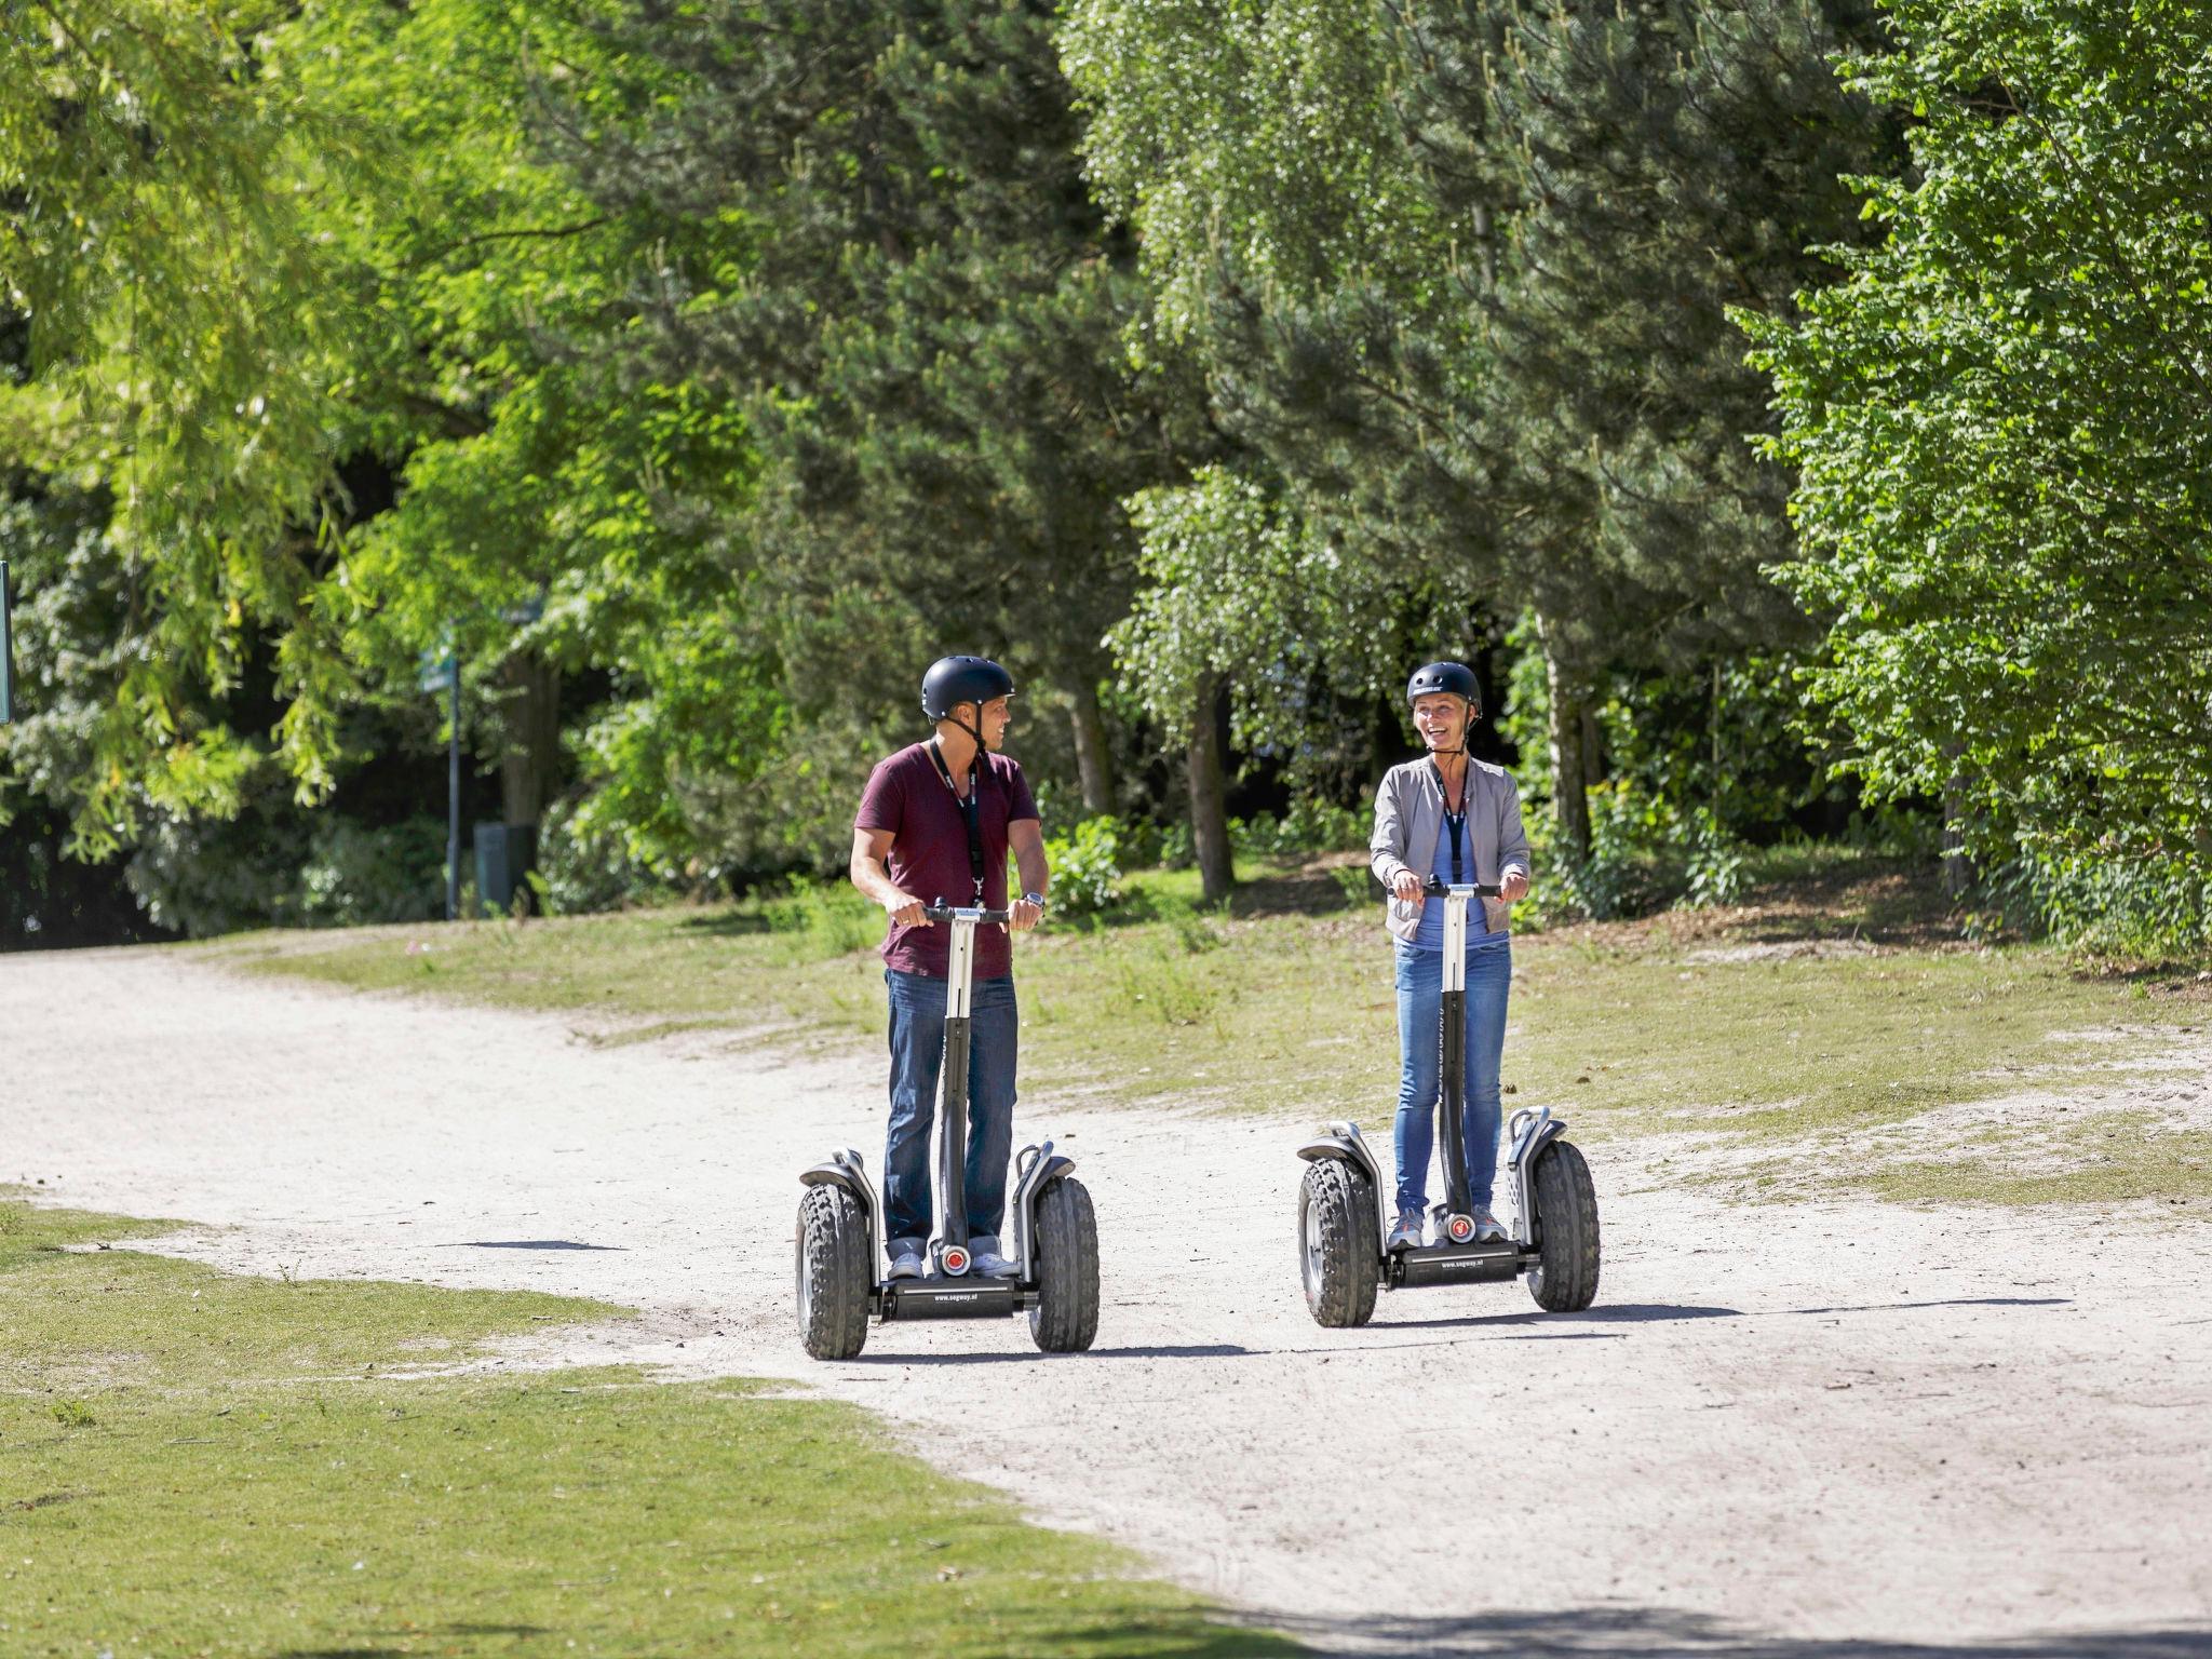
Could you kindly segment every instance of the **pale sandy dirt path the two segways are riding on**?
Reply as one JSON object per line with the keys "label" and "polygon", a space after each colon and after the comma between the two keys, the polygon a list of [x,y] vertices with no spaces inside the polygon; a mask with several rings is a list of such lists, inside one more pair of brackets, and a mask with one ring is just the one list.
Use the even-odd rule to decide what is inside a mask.
{"label": "pale sandy dirt path the two segways are riding on", "polygon": [[1608,1146],[1588,1314],[1493,1285],[1323,1332],[1303,1121],[1024,1099],[1097,1199],[1097,1349],[953,1323],[812,1365],[794,1175],[874,1164],[867,1057],[593,1048],[161,951],[0,958],[0,1181],[223,1223],[173,1248],[232,1270],[644,1307],[575,1356],[858,1400],[1325,1652],[2212,1655],[2203,1223],[1728,1208]]}

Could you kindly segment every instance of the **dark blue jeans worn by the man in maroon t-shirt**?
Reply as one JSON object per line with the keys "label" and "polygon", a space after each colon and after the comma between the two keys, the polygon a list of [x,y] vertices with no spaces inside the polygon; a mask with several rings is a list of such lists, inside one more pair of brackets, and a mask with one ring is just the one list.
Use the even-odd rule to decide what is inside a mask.
{"label": "dark blue jeans worn by the man in maroon t-shirt", "polygon": [[[945,1071],[947,980],[885,969],[891,989],[891,1128],[883,1146],[885,1239],[929,1239],[936,1197],[929,1172]],[[1013,1060],[1022,1020],[1013,980],[975,980],[969,995],[969,1239],[998,1239],[1013,1155]],[[1433,1018],[1433,1015],[1431,1015]]]}

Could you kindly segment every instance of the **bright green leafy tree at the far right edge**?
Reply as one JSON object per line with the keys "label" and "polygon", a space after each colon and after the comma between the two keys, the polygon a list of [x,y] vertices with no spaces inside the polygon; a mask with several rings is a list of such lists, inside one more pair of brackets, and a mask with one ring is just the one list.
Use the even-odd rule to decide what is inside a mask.
{"label": "bright green leafy tree at the far right edge", "polygon": [[[1880,246],[1747,319],[1798,469],[1812,690],[1882,796],[1971,852],[2185,878],[2212,856],[2212,18],[1896,0],[1854,71],[1911,111]],[[2194,920],[2190,920],[2194,918]],[[2194,940],[2197,947],[2203,938]]]}

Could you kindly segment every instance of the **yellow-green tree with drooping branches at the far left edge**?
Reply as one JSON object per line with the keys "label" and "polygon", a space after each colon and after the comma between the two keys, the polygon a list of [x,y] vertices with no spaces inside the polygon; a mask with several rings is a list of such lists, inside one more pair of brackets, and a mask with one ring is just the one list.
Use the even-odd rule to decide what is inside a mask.
{"label": "yellow-green tree with drooping branches at the far left edge", "polygon": [[91,732],[75,841],[106,852],[144,810],[226,812],[254,739],[199,690],[279,637],[279,743],[327,783],[349,690],[332,584],[341,385],[367,319],[316,234],[321,195],[369,135],[261,62],[285,7],[38,0],[0,11],[0,301],[29,319],[31,378],[0,385],[0,453],[91,476],[131,560],[131,622]]}

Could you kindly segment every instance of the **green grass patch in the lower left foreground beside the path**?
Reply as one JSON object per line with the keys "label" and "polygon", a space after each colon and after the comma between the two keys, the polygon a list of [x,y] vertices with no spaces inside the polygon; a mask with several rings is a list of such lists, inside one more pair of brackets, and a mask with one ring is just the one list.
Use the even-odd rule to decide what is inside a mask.
{"label": "green grass patch in the lower left foreground beside the path", "polygon": [[619,1310],[237,1279],[0,1199],[0,1652],[1274,1655],[865,1413],[405,1376]]}

